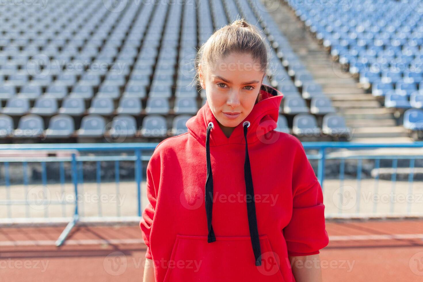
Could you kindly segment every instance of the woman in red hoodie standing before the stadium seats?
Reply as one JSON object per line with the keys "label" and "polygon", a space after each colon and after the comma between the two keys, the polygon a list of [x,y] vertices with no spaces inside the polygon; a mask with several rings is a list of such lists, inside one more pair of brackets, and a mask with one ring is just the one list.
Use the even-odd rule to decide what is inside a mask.
{"label": "woman in red hoodie standing before the stadium seats", "polygon": [[299,140],[274,130],[267,48],[241,19],[199,50],[206,103],[147,166],[145,282],[321,281],[321,186]]}

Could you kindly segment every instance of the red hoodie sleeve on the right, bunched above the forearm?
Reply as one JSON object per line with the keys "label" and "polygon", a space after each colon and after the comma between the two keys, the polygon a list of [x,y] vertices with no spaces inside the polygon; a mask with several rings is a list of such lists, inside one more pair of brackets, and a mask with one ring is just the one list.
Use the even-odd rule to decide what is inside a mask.
{"label": "red hoodie sleeve on the right, bunched above the forearm", "polygon": [[283,228],[288,256],[319,254],[329,243],[325,230],[323,192],[320,183],[299,145],[292,172],[293,208],[288,225]]}

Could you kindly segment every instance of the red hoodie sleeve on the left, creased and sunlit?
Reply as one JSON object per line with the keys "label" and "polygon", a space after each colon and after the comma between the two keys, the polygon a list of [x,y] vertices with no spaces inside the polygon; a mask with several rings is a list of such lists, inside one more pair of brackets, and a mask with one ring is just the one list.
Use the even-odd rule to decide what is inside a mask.
{"label": "red hoodie sleeve on the left, creased and sunlit", "polygon": [[150,161],[147,165],[147,184],[146,184],[146,190],[147,190],[147,199],[148,204],[146,208],[143,210],[142,218],[140,221],[140,228],[141,233],[143,235],[144,244],[147,246],[146,251],[146,258],[153,259],[150,252],[150,231],[151,227],[153,225],[153,219],[154,219],[154,211],[156,209],[156,203],[157,203],[157,193],[156,189],[158,187],[158,179],[159,177],[155,177],[154,173],[160,172],[160,166],[159,162],[157,161],[158,156],[157,152],[154,152],[151,156]]}

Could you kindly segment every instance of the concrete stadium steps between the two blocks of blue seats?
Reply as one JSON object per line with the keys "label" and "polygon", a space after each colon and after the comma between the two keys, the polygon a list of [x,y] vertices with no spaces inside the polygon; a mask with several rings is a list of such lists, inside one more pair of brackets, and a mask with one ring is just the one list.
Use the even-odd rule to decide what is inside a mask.
{"label": "concrete stadium steps between the two blocks of blue seats", "polygon": [[338,113],[345,118],[346,125],[352,128],[350,141],[412,142],[407,130],[397,126],[393,110],[382,107],[376,97],[360,88],[351,74],[341,71],[339,63],[332,60],[283,0],[270,14]]}

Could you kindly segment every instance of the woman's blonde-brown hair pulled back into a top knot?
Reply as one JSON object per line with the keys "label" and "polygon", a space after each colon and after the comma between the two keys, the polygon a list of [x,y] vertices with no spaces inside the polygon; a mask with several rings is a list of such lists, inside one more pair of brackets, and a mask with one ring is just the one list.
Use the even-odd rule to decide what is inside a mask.
{"label": "woman's blonde-brown hair pulled back into a top knot", "polygon": [[[250,54],[253,60],[258,62],[259,70],[267,73],[269,67],[269,47],[266,38],[255,27],[250,25],[244,18],[236,19],[231,24],[216,30],[210,38],[201,45],[195,57],[194,85],[200,83],[198,66],[213,66],[217,60],[225,58],[232,52],[238,54]],[[203,68],[204,69],[204,68]],[[260,91],[257,103],[260,99]]]}

